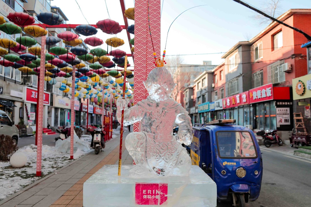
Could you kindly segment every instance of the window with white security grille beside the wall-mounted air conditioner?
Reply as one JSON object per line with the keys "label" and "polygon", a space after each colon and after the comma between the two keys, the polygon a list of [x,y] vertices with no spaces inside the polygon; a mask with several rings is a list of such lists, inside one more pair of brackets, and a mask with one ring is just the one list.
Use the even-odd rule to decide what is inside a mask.
{"label": "window with white security grille beside the wall-mounted air conditioner", "polygon": [[267,66],[268,83],[282,83],[285,81],[285,72],[282,71],[284,63],[284,60],[281,60]]}

